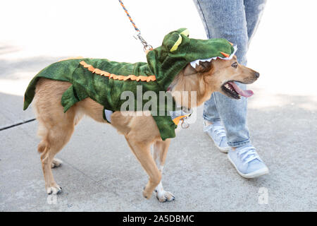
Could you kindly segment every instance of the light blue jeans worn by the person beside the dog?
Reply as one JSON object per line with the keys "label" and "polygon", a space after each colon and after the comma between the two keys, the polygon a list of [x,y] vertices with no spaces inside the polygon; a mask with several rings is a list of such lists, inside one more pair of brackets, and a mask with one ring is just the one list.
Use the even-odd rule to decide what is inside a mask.
{"label": "light blue jeans worn by the person beside the dog", "polygon": [[[256,31],[266,0],[194,0],[208,38],[225,38],[237,45],[237,60],[247,64],[247,50]],[[238,83],[240,88],[246,85]],[[232,100],[213,93],[204,104],[207,121],[223,121],[228,145],[240,147],[251,143],[247,127],[247,98]]]}

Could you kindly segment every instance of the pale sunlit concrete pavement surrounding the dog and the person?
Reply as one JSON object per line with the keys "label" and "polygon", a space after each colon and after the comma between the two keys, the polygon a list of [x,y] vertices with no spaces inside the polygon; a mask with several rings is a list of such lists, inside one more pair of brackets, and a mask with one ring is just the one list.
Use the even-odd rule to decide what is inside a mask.
{"label": "pale sunlit concrete pavement surrounding the dog and the person", "polygon": [[[175,201],[159,203],[155,196],[150,200],[142,197],[147,174],[132,155],[123,136],[111,126],[88,118],[77,125],[70,142],[57,155],[63,160],[63,165],[53,169],[56,182],[63,187],[63,193],[56,200],[48,198],[44,189],[37,153],[37,121],[4,129],[34,118],[32,109],[22,110],[26,85],[39,70],[58,59],[82,55],[117,61],[144,61],[139,43],[126,35],[125,28],[130,29],[128,19],[113,1],[98,1],[101,6],[94,8],[96,12],[106,6],[113,7],[108,9],[108,12],[113,11],[112,14],[102,15],[105,17],[103,20],[99,18],[101,13],[89,10],[85,14],[87,18],[94,16],[99,21],[118,17],[116,24],[107,24],[109,30],[116,31],[116,35],[107,35],[107,31],[100,30],[101,35],[97,37],[92,37],[90,33],[81,37],[67,24],[68,19],[72,23],[71,18],[76,18],[76,12],[84,13],[86,5],[76,5],[78,11],[66,15],[66,9],[72,7],[70,1],[63,1],[64,8],[58,8],[61,3],[56,1],[56,5],[50,6],[47,12],[46,4],[41,2],[28,1],[28,7],[32,4],[36,6],[28,11],[27,16],[31,18],[25,16],[25,21],[11,18],[13,25],[7,29],[19,28],[20,33],[25,34],[23,37],[12,29],[4,34],[4,40],[0,42],[0,129],[3,129],[0,131],[0,211],[317,211],[317,93],[314,88],[316,74],[311,72],[316,71],[316,63],[311,58],[300,57],[296,59],[296,64],[289,57],[271,60],[266,46],[270,43],[272,49],[280,47],[285,56],[302,54],[301,49],[288,46],[297,39],[293,29],[300,31],[309,26],[296,23],[297,18],[292,16],[295,9],[304,6],[287,1],[290,13],[285,12],[284,18],[289,20],[285,24],[291,24],[292,30],[283,26],[284,33],[272,37],[273,32],[280,30],[278,23],[283,20],[275,18],[280,17],[278,8],[286,1],[268,2],[248,54],[248,65],[261,73],[259,81],[250,85],[255,93],[249,99],[251,141],[268,165],[270,174],[257,179],[240,177],[227,156],[220,153],[203,133],[202,107],[199,107],[197,122],[181,131],[168,151],[163,186],[175,195]],[[151,44],[155,47],[162,38],[157,34],[166,34],[181,27],[189,28],[192,37],[204,35],[192,1],[181,2],[168,1],[172,8],[178,8],[178,12],[182,13],[163,18],[152,18],[147,11],[144,12],[140,7],[142,2],[131,4],[130,1],[129,4],[127,0],[125,4],[130,7],[130,12],[139,16],[140,27],[146,32],[153,32],[145,33],[145,37],[153,40]],[[8,4],[14,6],[11,1]],[[163,4],[158,1],[152,4],[157,4],[154,7],[157,11],[163,10]],[[41,8],[43,11],[39,10]],[[310,8],[314,7],[306,10]],[[11,9],[13,11],[14,7],[8,7],[8,11]],[[17,15],[22,17],[23,11],[20,13]],[[191,17],[187,16],[189,13]],[[302,17],[306,15],[315,14],[306,12]],[[150,29],[153,24],[148,25],[146,18],[151,18],[151,23],[156,25],[155,32]],[[1,15],[0,19],[4,20]],[[60,20],[66,25],[58,23]],[[83,23],[89,24],[89,21]],[[25,30],[24,24],[28,25],[30,32]],[[46,35],[48,30],[41,25],[50,25],[49,34],[52,36]],[[90,30],[97,29],[94,25],[96,23],[92,23]],[[87,27],[86,24],[82,26]],[[118,29],[118,26],[123,26],[123,29]],[[58,30],[70,36],[58,37]],[[291,36],[293,40],[286,39]],[[315,36],[310,34],[309,37],[316,40]],[[104,43],[105,37],[109,42]],[[118,42],[120,44],[113,44]],[[281,42],[285,46],[278,44]],[[305,45],[306,42],[301,43],[305,49],[310,47]],[[310,49],[311,53],[317,51],[314,48]],[[261,202],[266,194],[267,204]]]}

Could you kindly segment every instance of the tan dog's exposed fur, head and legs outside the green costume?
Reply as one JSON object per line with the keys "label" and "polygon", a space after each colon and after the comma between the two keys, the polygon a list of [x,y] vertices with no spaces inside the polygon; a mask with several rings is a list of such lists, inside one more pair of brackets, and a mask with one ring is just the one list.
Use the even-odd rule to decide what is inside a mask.
{"label": "tan dog's exposed fur, head and legs outside the green costume", "polygon": [[[220,92],[228,97],[240,99],[243,92],[232,81],[240,83],[253,83],[259,78],[259,73],[245,66],[237,64],[237,58],[230,60],[216,59],[211,62],[201,62],[195,69],[187,64],[173,81],[171,90],[175,102],[180,103],[180,96],[175,92],[197,92],[197,106],[208,100],[213,92]],[[42,168],[44,172],[45,187],[48,194],[58,194],[61,186],[56,184],[52,167],[61,165],[61,161],[54,158],[73,134],[75,125],[84,114],[99,122],[106,122],[103,118],[103,106],[86,98],[77,102],[66,113],[63,113],[61,96],[68,89],[70,83],[52,81],[41,78],[37,83],[34,108],[39,121],[39,136],[42,141],[38,145],[41,154]],[[190,98],[189,98],[190,100]],[[187,108],[197,107],[190,101],[182,102]],[[149,182],[144,188],[143,196],[150,198],[153,191],[159,201],[173,201],[174,196],[164,191],[161,184],[161,174],[166,160],[170,139],[162,141],[156,122],[151,116],[124,116],[121,112],[111,115],[111,125],[119,133],[122,133],[132,152],[137,157],[147,174]],[[154,154],[151,156],[150,147],[154,145]]]}

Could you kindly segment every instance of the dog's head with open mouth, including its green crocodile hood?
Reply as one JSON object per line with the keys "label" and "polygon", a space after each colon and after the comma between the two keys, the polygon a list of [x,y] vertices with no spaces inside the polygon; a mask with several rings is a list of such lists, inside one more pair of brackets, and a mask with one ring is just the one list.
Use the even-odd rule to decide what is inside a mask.
{"label": "dog's head with open mouth, including its green crocodile hood", "polygon": [[219,91],[228,97],[249,97],[250,90],[241,90],[234,81],[253,83],[259,73],[238,64],[237,48],[225,39],[198,40],[189,38],[189,31],[180,28],[164,37],[161,47],[147,54],[149,69],[165,90],[175,76],[198,73],[211,92]]}

